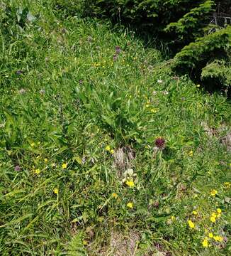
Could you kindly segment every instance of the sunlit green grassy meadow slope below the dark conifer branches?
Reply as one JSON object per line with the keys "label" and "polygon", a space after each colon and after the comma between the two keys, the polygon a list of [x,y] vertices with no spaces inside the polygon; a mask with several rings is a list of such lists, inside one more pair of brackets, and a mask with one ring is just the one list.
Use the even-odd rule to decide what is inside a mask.
{"label": "sunlit green grassy meadow slope below the dark conifer branches", "polygon": [[[2,5],[0,254],[116,255],[133,236],[124,255],[229,255],[230,102],[126,29]],[[206,230],[224,241],[203,247]]]}

